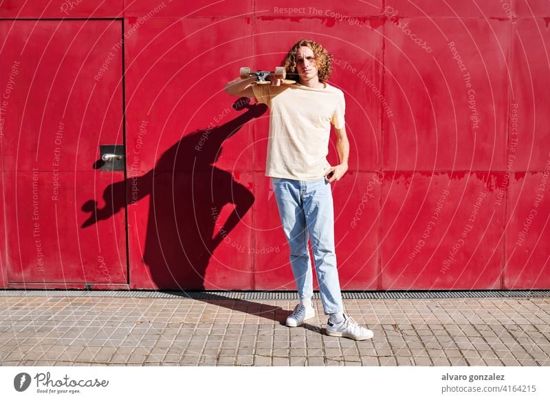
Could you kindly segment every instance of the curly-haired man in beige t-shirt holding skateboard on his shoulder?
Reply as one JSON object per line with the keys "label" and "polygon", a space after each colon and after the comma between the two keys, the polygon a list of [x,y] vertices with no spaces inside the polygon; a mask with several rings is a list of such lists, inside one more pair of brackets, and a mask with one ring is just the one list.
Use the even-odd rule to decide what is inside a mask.
{"label": "curly-haired man in beige t-shirt holding skateboard on his shoulder", "polygon": [[[314,318],[311,303],[313,276],[308,239],[314,254],[320,297],[329,315],[327,335],[366,340],[373,332],[344,313],[334,247],[334,210],[331,183],[348,169],[349,141],[344,123],[344,93],[327,83],[331,56],[320,44],[302,40],[285,58],[295,85],[252,85],[252,79],[228,82],[225,91],[256,98],[270,107],[270,135],[265,175],[272,178],[283,230],[290,247],[290,263],[300,304],[287,318],[287,326],[300,326]],[[327,162],[331,124],[336,131],[340,164]]]}

